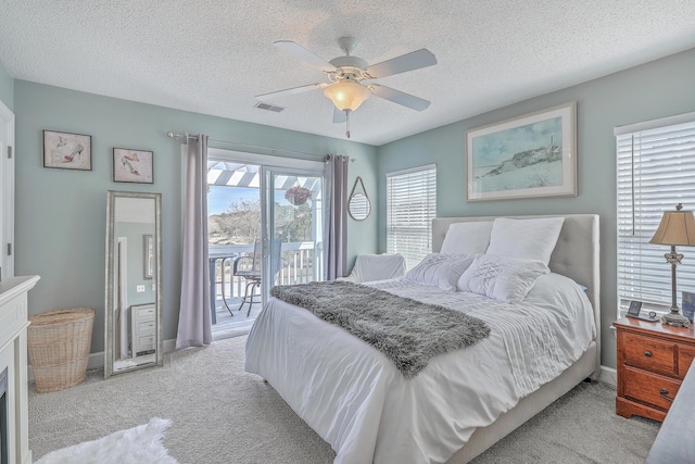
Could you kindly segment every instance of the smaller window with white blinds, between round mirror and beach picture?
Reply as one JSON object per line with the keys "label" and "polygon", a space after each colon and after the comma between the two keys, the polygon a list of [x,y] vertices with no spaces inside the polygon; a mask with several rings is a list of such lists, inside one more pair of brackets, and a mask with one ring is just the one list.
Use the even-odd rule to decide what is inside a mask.
{"label": "smaller window with white blinds, between round mirror and beach picture", "polygon": [[387,252],[413,268],[432,249],[437,216],[437,165],[387,174]]}

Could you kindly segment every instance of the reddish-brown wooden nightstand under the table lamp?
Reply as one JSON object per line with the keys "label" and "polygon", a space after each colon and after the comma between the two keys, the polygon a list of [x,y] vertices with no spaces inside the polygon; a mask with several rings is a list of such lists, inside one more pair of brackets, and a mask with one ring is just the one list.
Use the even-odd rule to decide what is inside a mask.
{"label": "reddish-brown wooden nightstand under the table lamp", "polygon": [[695,329],[626,317],[616,321],[616,413],[664,421],[695,359]]}

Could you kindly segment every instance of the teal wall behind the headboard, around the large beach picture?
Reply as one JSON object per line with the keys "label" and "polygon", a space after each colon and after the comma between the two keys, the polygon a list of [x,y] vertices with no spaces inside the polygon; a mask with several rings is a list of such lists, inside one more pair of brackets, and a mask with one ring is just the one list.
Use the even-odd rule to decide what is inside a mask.
{"label": "teal wall behind the headboard, around the large beach picture", "polygon": [[[379,147],[379,249],[386,250],[386,173],[437,163],[438,215],[601,215],[602,364],[616,366],[616,159],[612,129],[695,111],[695,49]],[[577,101],[576,198],[466,202],[466,130]]]}

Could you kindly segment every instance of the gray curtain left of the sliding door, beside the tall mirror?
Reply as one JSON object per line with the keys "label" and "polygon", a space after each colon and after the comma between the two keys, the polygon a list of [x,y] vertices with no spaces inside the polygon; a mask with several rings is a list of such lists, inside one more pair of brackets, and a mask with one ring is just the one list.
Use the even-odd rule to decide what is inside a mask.
{"label": "gray curtain left of the sliding door, beside the tall mirror", "polygon": [[187,135],[181,302],[176,349],[212,343],[207,265],[207,136]]}

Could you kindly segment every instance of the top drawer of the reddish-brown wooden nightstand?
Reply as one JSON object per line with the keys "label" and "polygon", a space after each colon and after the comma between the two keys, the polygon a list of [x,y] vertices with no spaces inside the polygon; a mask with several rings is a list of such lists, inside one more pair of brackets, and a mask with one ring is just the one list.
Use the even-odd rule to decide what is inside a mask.
{"label": "top drawer of the reddish-brown wooden nightstand", "polygon": [[630,333],[626,333],[622,336],[624,337],[626,364],[659,374],[677,374],[674,344],[672,342]]}

